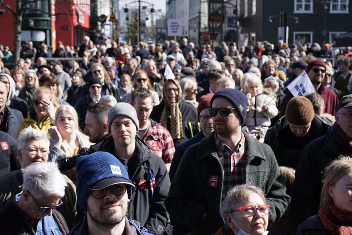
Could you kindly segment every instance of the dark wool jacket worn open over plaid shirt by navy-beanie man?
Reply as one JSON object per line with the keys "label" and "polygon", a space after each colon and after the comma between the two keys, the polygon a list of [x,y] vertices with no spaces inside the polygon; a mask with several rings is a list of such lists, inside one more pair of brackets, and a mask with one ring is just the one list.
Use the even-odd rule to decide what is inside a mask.
{"label": "dark wool jacket worn open over plaid shirt by navy-beanie man", "polygon": [[[270,147],[245,133],[244,136],[248,146],[245,182],[264,191],[272,222],[285,212],[289,196],[279,182],[279,166]],[[218,187],[208,186],[210,176],[219,177]],[[186,150],[166,198],[166,209],[172,218],[186,222],[192,235],[213,234],[224,226],[219,212],[222,182],[223,167],[213,133]]]}

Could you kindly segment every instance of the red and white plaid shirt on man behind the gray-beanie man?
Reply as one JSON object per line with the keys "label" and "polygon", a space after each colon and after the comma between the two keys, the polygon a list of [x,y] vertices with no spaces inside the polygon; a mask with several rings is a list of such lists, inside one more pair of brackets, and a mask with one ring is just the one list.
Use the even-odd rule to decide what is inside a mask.
{"label": "red and white plaid shirt on man behind the gray-beanie man", "polygon": [[148,145],[152,152],[162,158],[165,164],[171,163],[175,154],[174,140],[171,137],[170,132],[163,127],[160,123],[153,123],[143,141]]}

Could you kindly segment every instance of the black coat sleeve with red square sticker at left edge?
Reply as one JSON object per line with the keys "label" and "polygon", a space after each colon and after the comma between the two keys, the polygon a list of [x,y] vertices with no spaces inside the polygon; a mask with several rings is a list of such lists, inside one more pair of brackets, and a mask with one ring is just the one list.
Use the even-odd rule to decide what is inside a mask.
{"label": "black coat sleeve with red square sticker at left edge", "polygon": [[4,174],[21,169],[17,158],[17,143],[9,134],[0,131],[0,177]]}

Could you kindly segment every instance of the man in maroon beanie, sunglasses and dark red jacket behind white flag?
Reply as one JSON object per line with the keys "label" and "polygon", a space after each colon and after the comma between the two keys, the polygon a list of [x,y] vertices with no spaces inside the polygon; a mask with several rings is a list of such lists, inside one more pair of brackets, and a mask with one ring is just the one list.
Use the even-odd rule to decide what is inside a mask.
{"label": "man in maroon beanie, sunglasses and dark red jacket behind white flag", "polygon": [[[327,65],[322,60],[315,59],[308,63],[306,72],[316,92],[320,94],[324,99],[325,107],[323,112],[335,115],[338,96],[336,93],[334,93],[333,90],[326,88],[323,84],[326,67]],[[293,95],[288,92],[288,94],[286,94],[285,98],[283,99],[281,105],[281,117],[285,115],[286,106],[292,97]]]}

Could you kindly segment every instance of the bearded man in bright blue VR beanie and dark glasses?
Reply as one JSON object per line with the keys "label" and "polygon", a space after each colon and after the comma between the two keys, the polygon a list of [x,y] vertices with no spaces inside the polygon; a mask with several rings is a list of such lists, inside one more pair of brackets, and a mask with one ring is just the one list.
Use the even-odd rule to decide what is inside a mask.
{"label": "bearded man in bright blue VR beanie and dark glasses", "polygon": [[77,161],[78,205],[87,214],[70,235],[150,235],[139,222],[126,217],[134,185],[119,160],[95,152]]}

